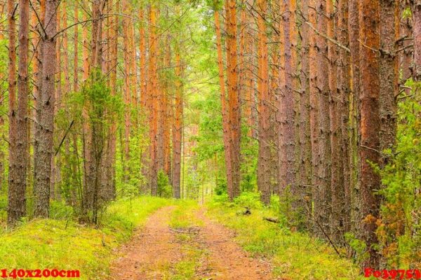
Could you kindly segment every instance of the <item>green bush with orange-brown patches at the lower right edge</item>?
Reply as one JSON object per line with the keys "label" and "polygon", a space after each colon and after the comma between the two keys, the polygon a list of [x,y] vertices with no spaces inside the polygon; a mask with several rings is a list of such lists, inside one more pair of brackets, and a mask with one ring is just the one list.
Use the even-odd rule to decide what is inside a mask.
{"label": "green bush with orange-brown patches at the lower right edge", "polygon": [[396,146],[383,151],[391,161],[379,169],[383,204],[377,236],[388,265],[400,268],[421,260],[421,83],[406,85],[413,92],[399,102]]}

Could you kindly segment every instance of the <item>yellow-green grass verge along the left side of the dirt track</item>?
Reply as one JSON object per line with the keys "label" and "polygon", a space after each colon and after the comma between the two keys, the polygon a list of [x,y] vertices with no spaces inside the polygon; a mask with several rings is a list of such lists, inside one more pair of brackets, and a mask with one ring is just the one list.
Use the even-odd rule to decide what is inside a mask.
{"label": "yellow-green grass verge along the left side of the dirt track", "polygon": [[0,267],[79,269],[81,279],[106,279],[113,248],[131,237],[152,212],[172,203],[156,197],[115,202],[100,228],[53,219],[23,223],[0,235]]}

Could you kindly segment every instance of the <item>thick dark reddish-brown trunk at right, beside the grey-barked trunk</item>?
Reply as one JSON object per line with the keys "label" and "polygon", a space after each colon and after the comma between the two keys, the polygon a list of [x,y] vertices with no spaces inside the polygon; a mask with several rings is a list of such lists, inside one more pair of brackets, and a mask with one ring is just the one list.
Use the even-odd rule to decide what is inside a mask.
{"label": "thick dark reddish-brown trunk at right, beside the grey-barked trunk", "polygon": [[[363,267],[379,268],[380,255],[374,246],[377,244],[377,218],[379,218],[380,199],[375,191],[380,188],[380,176],[375,172],[372,164],[379,163],[380,156],[380,76],[379,57],[380,48],[380,1],[361,0],[359,27],[361,42],[360,71],[361,71],[361,214],[363,215],[362,237],[366,242],[370,255],[363,263]],[[390,19],[389,19],[390,20]],[[384,24],[384,23],[383,23]]]}

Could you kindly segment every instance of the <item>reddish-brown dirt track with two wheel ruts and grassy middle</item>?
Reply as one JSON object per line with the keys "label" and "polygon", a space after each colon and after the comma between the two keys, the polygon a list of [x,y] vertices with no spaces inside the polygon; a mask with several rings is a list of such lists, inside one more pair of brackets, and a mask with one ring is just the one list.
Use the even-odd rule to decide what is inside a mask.
{"label": "reddish-brown dirt track with two wheel ruts and grassy middle", "polygon": [[[111,279],[270,280],[269,263],[250,256],[235,243],[234,232],[195,211],[200,226],[171,228],[175,207],[163,207],[147,219],[119,249]],[[185,274],[192,267],[191,274]],[[179,275],[179,271],[183,275]]]}

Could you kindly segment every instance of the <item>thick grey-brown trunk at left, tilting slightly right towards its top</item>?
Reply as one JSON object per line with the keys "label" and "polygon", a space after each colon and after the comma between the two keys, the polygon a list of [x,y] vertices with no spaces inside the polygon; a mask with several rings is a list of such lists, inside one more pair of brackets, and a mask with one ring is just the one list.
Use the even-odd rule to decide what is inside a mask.
{"label": "thick grey-brown trunk at left, tilting slightly right towards its top", "polygon": [[[57,24],[58,0],[46,1],[46,18],[43,34],[41,99],[39,100],[39,119],[37,120],[35,141],[38,149],[34,153],[34,194],[35,216],[48,217],[50,210],[51,158],[53,154],[54,131],[54,75],[55,75],[55,32]],[[45,24],[48,22],[48,24]]]}

